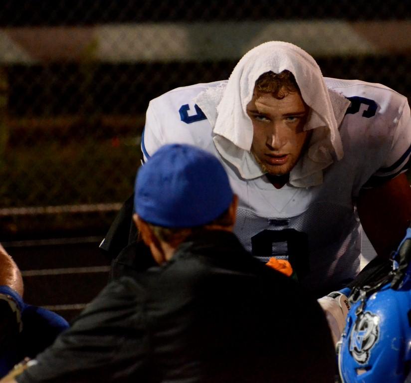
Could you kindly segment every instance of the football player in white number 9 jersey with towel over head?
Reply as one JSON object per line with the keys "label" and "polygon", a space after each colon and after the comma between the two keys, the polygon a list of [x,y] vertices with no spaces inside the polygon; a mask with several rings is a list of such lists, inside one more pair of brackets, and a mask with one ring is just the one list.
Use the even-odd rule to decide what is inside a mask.
{"label": "football player in white number 9 jersey with towel over head", "polygon": [[[323,77],[313,57],[287,42],[251,49],[228,80],[153,99],[144,161],[167,143],[220,159],[239,197],[242,244],[261,261],[288,260],[317,297],[360,272],[362,227],[378,254],[371,268],[389,257],[411,217],[407,98],[381,84]],[[134,246],[123,250],[122,270],[139,267],[130,259],[132,205],[101,244],[113,256],[127,241]]]}

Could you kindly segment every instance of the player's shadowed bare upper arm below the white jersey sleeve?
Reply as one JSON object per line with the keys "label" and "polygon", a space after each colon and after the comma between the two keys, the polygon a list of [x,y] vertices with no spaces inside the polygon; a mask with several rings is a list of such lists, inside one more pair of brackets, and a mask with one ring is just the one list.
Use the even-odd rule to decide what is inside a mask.
{"label": "player's shadowed bare upper arm below the white jersey sleeve", "polygon": [[411,220],[411,188],[405,173],[360,192],[361,224],[380,257],[388,258],[404,237]]}

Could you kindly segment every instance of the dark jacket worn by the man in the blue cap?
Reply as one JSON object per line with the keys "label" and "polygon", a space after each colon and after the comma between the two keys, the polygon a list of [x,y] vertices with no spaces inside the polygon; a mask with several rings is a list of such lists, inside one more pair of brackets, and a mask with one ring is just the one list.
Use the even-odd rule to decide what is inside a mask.
{"label": "dark jacket worn by the man in the blue cap", "polygon": [[18,382],[333,382],[325,316],[236,237],[205,231],[110,283]]}

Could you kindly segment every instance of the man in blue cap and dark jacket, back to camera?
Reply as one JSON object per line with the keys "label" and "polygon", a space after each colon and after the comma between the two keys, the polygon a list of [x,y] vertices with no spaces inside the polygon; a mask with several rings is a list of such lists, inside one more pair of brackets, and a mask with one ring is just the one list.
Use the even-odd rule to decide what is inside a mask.
{"label": "man in blue cap and dark jacket, back to camera", "polygon": [[237,198],[214,156],[160,148],[138,172],[134,203],[158,266],[111,282],[1,382],[334,382],[320,306],[231,232]]}

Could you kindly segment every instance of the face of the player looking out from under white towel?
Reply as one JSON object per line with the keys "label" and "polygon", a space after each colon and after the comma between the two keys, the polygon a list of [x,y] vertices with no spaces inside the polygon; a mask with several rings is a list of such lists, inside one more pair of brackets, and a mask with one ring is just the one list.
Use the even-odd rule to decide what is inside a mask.
{"label": "face of the player looking out from under white towel", "polygon": [[308,111],[298,91],[282,99],[254,91],[247,105],[254,130],[251,151],[263,172],[283,176],[294,168],[308,139],[303,130]]}

